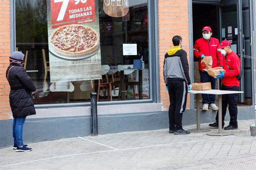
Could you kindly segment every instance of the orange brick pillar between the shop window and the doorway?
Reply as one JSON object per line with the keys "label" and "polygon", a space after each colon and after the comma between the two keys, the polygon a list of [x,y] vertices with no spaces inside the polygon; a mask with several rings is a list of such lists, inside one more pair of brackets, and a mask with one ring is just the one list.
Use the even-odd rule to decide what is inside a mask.
{"label": "orange brick pillar between the shop window and the doorway", "polygon": [[[164,54],[173,46],[172,37],[179,35],[182,37],[182,49],[187,51],[189,61],[188,0],[158,0],[158,20],[160,96],[162,110],[168,110],[170,101],[163,77]],[[190,108],[189,94],[186,108]]]}

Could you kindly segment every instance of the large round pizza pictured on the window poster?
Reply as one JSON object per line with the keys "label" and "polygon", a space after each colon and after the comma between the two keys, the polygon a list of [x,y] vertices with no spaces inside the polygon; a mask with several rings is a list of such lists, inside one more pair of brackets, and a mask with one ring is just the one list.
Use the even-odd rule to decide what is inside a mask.
{"label": "large round pizza pictured on the window poster", "polygon": [[84,25],[60,26],[49,37],[49,46],[61,56],[76,57],[98,51],[98,33]]}

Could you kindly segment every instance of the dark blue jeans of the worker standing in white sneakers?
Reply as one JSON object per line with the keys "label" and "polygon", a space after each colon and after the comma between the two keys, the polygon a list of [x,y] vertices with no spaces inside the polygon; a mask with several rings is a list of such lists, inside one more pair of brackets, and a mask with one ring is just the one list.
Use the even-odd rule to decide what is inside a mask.
{"label": "dark blue jeans of the worker standing in white sneakers", "polygon": [[[201,83],[211,83],[212,89],[215,89],[216,79],[210,76],[206,71],[199,71],[200,73],[200,82]],[[215,95],[202,94],[203,105],[215,103]]]}

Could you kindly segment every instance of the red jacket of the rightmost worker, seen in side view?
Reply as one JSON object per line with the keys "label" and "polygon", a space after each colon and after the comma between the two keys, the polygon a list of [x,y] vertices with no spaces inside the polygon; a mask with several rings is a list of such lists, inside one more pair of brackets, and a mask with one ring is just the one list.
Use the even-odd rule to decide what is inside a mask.
{"label": "red jacket of the rightmost worker, seen in side view", "polygon": [[223,58],[223,69],[226,70],[224,73],[224,77],[222,78],[222,84],[225,86],[237,86],[239,87],[239,80],[236,76],[240,73],[240,65],[241,61],[240,58],[236,55],[235,52],[229,53],[227,56],[227,64],[226,65],[225,57]]}

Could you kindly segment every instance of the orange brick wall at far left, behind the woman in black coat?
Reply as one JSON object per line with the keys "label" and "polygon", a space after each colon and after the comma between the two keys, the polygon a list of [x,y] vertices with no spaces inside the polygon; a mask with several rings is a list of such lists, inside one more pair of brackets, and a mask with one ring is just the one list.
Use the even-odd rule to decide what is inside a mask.
{"label": "orange brick wall at far left, behind the woman in black coat", "polygon": [[10,1],[0,0],[0,120],[11,118],[10,86],[5,77],[10,56]]}

